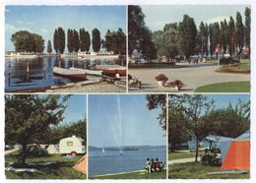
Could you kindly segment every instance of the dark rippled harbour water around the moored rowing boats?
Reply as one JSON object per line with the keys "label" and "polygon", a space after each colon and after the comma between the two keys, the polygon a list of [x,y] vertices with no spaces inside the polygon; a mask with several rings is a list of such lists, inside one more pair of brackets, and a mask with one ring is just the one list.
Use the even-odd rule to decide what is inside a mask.
{"label": "dark rippled harbour water around the moored rowing boats", "polygon": [[[5,91],[31,90],[60,86],[70,82],[69,79],[53,76],[53,67],[85,68],[86,65],[125,64],[120,59],[71,59],[57,57],[43,58],[5,58]],[[29,71],[29,72],[28,72]],[[90,80],[90,77],[88,78]]]}

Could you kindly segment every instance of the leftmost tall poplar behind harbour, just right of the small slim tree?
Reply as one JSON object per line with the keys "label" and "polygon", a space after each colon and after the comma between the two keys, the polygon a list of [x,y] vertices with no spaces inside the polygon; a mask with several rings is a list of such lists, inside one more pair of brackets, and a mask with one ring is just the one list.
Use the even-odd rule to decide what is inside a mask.
{"label": "leftmost tall poplar behind harbour, just right of the small slim tree", "polygon": [[62,28],[54,30],[53,46],[57,54],[63,54],[65,50],[65,31]]}

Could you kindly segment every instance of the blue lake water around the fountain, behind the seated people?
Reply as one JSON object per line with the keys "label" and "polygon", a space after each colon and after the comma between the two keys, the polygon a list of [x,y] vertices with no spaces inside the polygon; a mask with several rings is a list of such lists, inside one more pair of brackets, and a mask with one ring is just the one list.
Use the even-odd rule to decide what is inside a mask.
{"label": "blue lake water around the fountain, behind the seated people", "polygon": [[118,151],[105,151],[104,153],[90,151],[89,176],[142,170],[148,157],[154,159],[158,157],[166,164],[165,150],[165,148],[159,147],[149,150],[124,151],[123,155],[120,155]]}

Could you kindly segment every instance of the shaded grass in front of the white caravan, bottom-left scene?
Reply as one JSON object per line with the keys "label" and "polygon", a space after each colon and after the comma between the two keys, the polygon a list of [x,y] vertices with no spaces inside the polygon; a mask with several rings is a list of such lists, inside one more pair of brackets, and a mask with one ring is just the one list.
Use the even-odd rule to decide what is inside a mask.
{"label": "shaded grass in front of the white caravan, bottom-left scene", "polygon": [[[79,161],[83,155],[65,158],[59,154],[46,156],[28,157],[30,162],[54,162],[50,165],[28,165],[30,168],[36,168],[36,172],[15,172],[5,171],[7,179],[86,179],[87,175],[75,170],[72,166]],[[8,167],[11,162],[18,161],[18,152],[5,155],[5,166]]]}

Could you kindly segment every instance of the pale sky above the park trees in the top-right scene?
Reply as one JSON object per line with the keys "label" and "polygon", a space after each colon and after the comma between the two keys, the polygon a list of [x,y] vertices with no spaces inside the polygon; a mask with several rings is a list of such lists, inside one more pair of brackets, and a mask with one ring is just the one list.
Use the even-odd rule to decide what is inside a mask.
{"label": "pale sky above the park trees in the top-right scene", "polygon": [[229,20],[232,16],[235,20],[236,12],[240,12],[244,20],[245,5],[142,5],[145,14],[145,23],[150,30],[163,30],[165,24],[181,22],[183,15],[194,18],[199,27],[200,23],[221,22]]}

